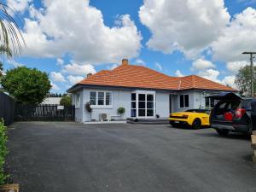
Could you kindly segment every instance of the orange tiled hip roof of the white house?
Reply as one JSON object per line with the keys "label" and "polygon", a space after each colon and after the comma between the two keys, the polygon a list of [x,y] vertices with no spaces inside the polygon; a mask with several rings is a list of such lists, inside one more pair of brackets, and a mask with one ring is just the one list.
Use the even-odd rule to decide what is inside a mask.
{"label": "orange tiled hip roof of the white house", "polygon": [[236,91],[230,87],[203,79],[196,75],[183,78],[170,77],[148,67],[120,65],[115,69],[103,70],[79,82],[85,85],[131,87],[156,90],[225,90]]}

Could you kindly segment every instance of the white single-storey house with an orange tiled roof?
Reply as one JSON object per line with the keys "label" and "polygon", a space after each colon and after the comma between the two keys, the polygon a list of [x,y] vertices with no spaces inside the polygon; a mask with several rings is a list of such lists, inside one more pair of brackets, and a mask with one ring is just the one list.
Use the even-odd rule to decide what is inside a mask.
{"label": "white single-storey house with an orange tiled roof", "polygon": [[[236,90],[196,75],[170,77],[123,60],[113,70],[89,74],[67,91],[73,96],[76,121],[86,122],[99,120],[102,113],[111,119],[167,118],[172,112],[211,107],[205,96]],[[122,116],[117,113],[120,107],[125,108]]]}

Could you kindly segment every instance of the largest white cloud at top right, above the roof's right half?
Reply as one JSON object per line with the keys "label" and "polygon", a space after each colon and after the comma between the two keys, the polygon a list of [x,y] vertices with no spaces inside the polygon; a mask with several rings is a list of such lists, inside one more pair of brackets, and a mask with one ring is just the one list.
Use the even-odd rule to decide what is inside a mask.
{"label": "largest white cloud at top right, above the roof's right half", "polygon": [[230,20],[224,0],[144,0],[139,17],[152,32],[149,48],[189,57],[212,44]]}

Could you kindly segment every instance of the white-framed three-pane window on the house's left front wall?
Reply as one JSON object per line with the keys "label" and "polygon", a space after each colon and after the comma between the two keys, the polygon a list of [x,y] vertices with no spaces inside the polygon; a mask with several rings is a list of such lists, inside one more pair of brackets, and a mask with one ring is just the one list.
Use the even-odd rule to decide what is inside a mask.
{"label": "white-framed three-pane window on the house's left front wall", "polygon": [[90,103],[93,106],[112,106],[112,92],[90,91]]}

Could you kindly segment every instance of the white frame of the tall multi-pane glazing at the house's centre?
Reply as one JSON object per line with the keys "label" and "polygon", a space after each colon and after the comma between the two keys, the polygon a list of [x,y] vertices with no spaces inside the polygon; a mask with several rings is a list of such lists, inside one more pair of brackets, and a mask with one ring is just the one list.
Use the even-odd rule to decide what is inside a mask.
{"label": "white frame of the tall multi-pane glazing at the house's centre", "polygon": [[[137,118],[137,119],[154,119],[155,118],[155,113],[156,113],[156,97],[155,97],[155,91],[146,91],[146,90],[136,90],[136,91],[133,91],[131,92],[132,93],[135,93],[136,94],[136,101],[130,101],[130,105],[131,105],[131,102],[136,102],[136,117],[131,117],[131,118]],[[146,94],[146,98],[145,98],[145,116],[143,117],[140,117],[138,115],[138,112],[139,112],[139,94]],[[154,115],[153,116],[147,116],[147,95],[153,95],[154,96]],[[130,99],[131,100],[131,99]],[[133,108],[135,109],[135,108]],[[131,112],[130,112],[131,113]],[[131,115],[130,115],[131,116]]]}

